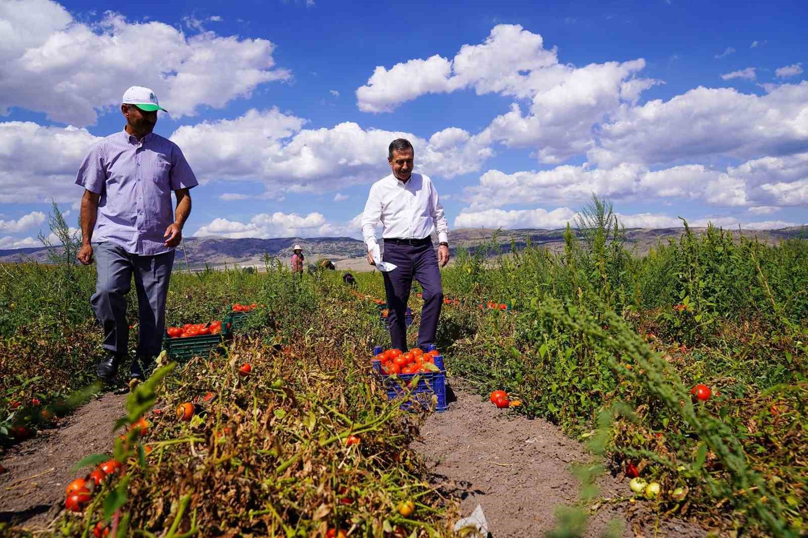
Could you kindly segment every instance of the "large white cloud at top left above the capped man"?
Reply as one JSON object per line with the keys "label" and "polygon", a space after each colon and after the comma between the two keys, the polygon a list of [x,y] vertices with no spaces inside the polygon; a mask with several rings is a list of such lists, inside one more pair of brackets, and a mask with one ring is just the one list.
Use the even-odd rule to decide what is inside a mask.
{"label": "large white cloud at top left above the capped man", "polygon": [[263,82],[288,80],[274,48],[215,32],[187,36],[113,12],[81,22],[46,0],[0,2],[0,114],[23,107],[63,123],[95,124],[137,84],[152,88],[172,116],[193,116],[204,105],[249,98]]}

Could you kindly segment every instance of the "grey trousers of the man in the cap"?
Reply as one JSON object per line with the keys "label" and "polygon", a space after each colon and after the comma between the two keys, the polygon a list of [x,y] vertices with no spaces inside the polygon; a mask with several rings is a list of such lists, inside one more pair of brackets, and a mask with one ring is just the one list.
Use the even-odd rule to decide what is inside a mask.
{"label": "grey trousers of the man in the cap", "polygon": [[126,355],[129,322],[126,319],[126,294],[135,276],[137,307],[140,320],[140,343],[137,356],[151,357],[160,353],[166,330],[166,296],[174,250],[154,256],[130,254],[112,242],[94,247],[98,280],[90,304],[103,326],[103,347],[116,355]]}

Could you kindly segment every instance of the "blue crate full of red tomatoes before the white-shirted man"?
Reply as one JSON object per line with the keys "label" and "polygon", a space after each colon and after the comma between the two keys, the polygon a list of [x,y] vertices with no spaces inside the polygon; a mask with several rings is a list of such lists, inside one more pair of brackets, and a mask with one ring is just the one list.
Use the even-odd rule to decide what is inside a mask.
{"label": "blue crate full of red tomatoes before the white-shirted man", "polygon": [[[402,409],[421,406],[439,412],[448,409],[444,357],[434,345],[426,353],[417,347],[406,353],[398,349],[383,351],[381,347],[376,347],[372,365],[373,373],[381,380],[389,400],[407,397],[406,401],[402,401]],[[418,382],[413,387],[412,382],[416,377]]]}

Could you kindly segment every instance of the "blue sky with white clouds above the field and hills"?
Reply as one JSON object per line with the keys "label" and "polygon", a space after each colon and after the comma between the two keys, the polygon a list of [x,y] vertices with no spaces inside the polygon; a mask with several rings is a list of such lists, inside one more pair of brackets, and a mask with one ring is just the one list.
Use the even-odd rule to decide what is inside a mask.
{"label": "blue sky with white clouds above the field and hills", "polygon": [[[437,5],[436,5],[437,4]],[[186,235],[360,237],[402,133],[450,229],[806,223],[806,2],[0,2],[0,248],[123,127],[131,85],[200,187]]]}

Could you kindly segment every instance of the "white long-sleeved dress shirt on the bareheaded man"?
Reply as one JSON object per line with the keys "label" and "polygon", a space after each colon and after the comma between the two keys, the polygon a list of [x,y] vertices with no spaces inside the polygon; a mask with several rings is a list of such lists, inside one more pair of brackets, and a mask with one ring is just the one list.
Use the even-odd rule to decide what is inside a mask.
{"label": "white long-sleeved dress shirt on the bareheaded man", "polygon": [[379,221],[384,238],[423,239],[437,230],[438,242],[448,242],[444,206],[440,205],[435,185],[423,174],[410,175],[406,183],[389,174],[370,187],[362,215],[362,235],[368,250],[377,244]]}

